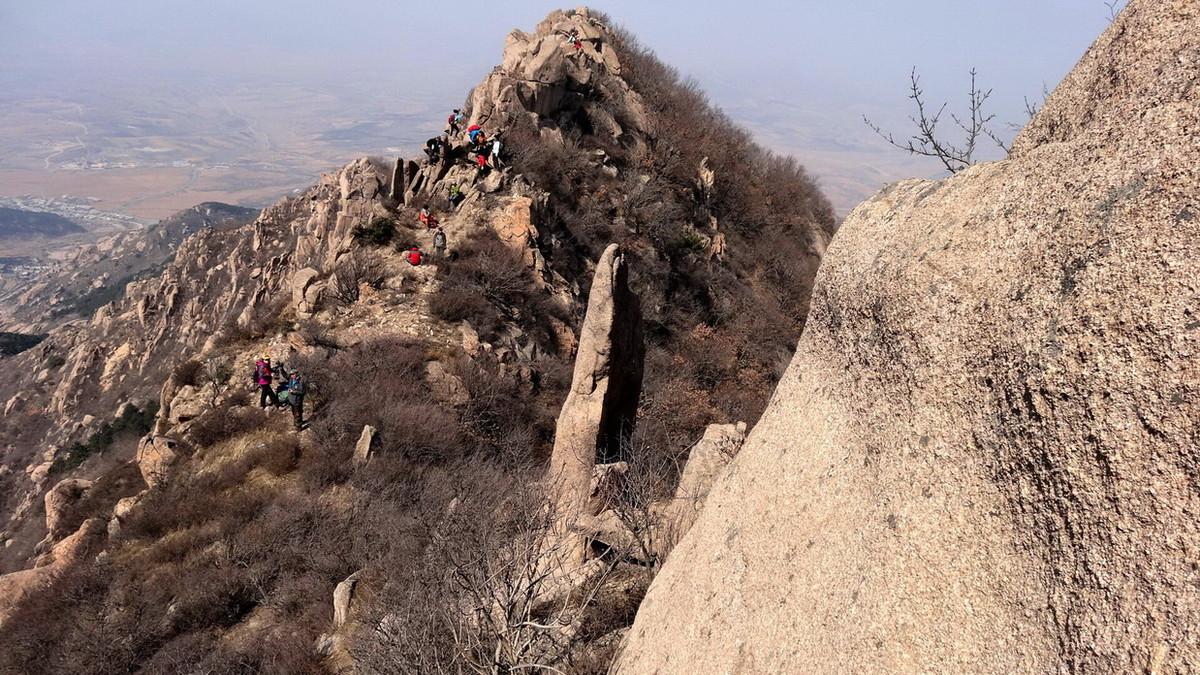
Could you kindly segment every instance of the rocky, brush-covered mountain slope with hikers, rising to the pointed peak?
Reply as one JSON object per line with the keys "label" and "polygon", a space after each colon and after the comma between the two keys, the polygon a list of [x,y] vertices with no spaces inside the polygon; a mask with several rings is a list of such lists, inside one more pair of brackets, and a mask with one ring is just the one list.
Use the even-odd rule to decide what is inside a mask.
{"label": "rocky, brush-covered mountain slope with hikers, rising to the pointed peak", "polygon": [[[610,243],[646,319],[638,432],[616,449],[656,468],[643,496],[670,496],[708,424],[758,416],[830,209],[606,23],[553,12],[509,36],[463,125],[500,136],[503,168],[476,169],[461,133],[437,159],[358,160],[252,225],[193,234],[160,275],[0,362],[0,563],[49,569],[48,591],[0,605],[16,645],[0,670],[462,667],[478,645],[437,619],[478,628],[491,608],[454,574],[545,538],[542,477]],[[410,246],[432,249],[422,207],[450,255],[413,267]],[[264,353],[307,376],[306,430],[254,406]],[[72,531],[103,563],[59,562]],[[539,658],[606,663],[656,565],[626,557],[593,558],[602,602]]]}

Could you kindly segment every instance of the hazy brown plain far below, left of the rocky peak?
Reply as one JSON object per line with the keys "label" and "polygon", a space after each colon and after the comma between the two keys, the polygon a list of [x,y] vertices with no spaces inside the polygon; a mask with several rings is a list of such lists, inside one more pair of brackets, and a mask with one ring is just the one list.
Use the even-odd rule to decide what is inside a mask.
{"label": "hazy brown plain far below, left of the rocky peak", "polygon": [[143,222],[202,202],[260,208],[346,157],[415,151],[446,104],[352,82],[187,82],[0,74],[0,197]]}

